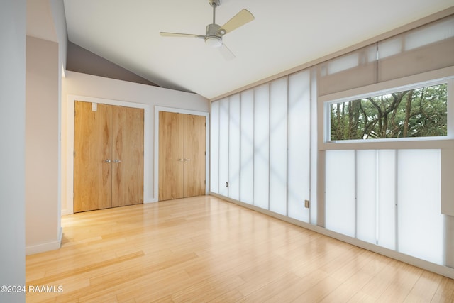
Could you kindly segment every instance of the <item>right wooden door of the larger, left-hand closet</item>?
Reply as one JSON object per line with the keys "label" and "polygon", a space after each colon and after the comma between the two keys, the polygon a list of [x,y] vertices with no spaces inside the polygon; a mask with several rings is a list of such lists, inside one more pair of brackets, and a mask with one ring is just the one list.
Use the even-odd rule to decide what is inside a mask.
{"label": "right wooden door of the larger, left-hand closet", "polygon": [[143,203],[143,109],[112,106],[112,207]]}

